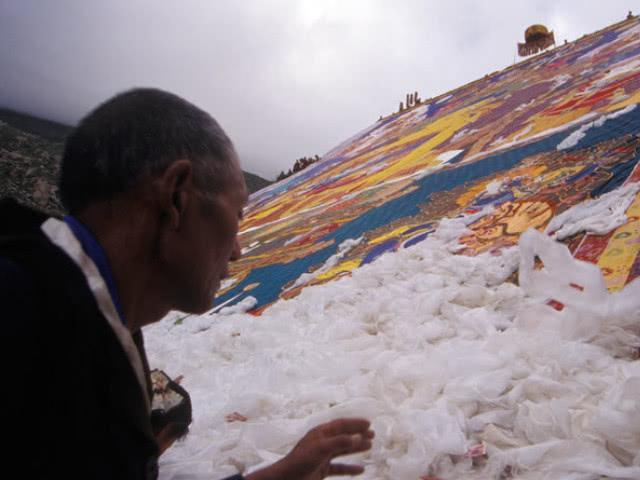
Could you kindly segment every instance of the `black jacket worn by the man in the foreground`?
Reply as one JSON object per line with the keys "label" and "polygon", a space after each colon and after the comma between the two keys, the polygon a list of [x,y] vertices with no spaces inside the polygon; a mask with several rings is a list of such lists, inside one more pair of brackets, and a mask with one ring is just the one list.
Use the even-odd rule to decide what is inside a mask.
{"label": "black jacket worn by the man in the foreground", "polygon": [[[16,478],[148,479],[158,448],[135,371],[82,271],[0,201],[3,469]],[[134,335],[144,369],[142,334]]]}

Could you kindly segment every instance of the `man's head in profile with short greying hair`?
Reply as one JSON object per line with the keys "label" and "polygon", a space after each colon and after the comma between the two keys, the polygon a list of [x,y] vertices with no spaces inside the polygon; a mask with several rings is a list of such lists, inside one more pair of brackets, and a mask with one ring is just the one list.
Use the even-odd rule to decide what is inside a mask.
{"label": "man's head in profile with short greying hair", "polygon": [[247,194],[233,144],[210,115],[176,95],[136,89],[97,107],[67,140],[59,190],[113,263],[125,252],[111,244],[133,249],[140,240],[155,276],[157,291],[148,293],[169,308],[207,310],[240,255]]}

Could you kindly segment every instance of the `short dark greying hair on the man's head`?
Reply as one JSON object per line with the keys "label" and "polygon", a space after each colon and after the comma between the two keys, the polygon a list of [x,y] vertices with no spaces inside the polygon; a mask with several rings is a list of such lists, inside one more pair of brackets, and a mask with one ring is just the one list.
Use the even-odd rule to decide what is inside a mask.
{"label": "short dark greying hair on the man's head", "polygon": [[174,161],[193,162],[196,186],[222,190],[236,171],[233,143],[205,111],[172,93],[130,90],[87,115],[67,139],[59,191],[70,213],[126,192]]}

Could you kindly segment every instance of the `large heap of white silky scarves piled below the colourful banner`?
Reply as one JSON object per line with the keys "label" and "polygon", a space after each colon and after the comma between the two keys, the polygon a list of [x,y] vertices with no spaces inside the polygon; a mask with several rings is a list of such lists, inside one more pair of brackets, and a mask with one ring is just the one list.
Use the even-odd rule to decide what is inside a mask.
{"label": "large heap of white silky scarves piled below the colourful banner", "polygon": [[[343,416],[376,430],[351,459],[363,479],[640,478],[640,284],[609,294],[597,267],[535,231],[501,254],[456,255],[468,221],[261,317],[148,328],[151,365],[185,376],[195,412],[161,478],[270,463]],[[518,264],[521,287],[505,282]],[[487,455],[472,458],[479,443]]]}

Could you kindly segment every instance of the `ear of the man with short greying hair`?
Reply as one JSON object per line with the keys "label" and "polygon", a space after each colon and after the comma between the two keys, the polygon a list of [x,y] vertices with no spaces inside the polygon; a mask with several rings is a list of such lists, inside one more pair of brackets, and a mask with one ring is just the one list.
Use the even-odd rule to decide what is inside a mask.
{"label": "ear of the man with short greying hair", "polygon": [[160,177],[161,202],[172,229],[183,221],[193,187],[193,165],[189,160],[176,160]]}

